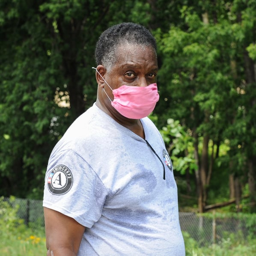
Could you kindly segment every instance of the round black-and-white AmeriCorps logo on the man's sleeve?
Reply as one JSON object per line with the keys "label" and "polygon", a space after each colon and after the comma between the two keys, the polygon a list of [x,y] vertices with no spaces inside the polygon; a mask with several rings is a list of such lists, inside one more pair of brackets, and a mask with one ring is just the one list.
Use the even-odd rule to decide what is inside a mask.
{"label": "round black-and-white AmeriCorps logo on the man's sleeve", "polygon": [[48,189],[54,195],[67,193],[73,185],[71,171],[65,165],[58,165],[51,170],[48,176]]}

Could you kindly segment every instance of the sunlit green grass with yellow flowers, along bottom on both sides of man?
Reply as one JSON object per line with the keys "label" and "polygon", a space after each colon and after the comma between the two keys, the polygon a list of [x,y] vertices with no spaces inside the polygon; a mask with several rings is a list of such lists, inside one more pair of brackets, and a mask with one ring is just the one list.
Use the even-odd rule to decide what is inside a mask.
{"label": "sunlit green grass with yellow flowers, along bottom on both sides of man", "polygon": [[[0,227],[1,230],[2,227]],[[18,232],[5,230],[1,234],[1,256],[41,256],[46,255],[45,232],[43,229],[32,231],[19,227]],[[188,233],[184,233],[186,256],[252,256],[256,255],[256,238],[249,241],[238,241],[230,234],[218,244],[199,247]]]}

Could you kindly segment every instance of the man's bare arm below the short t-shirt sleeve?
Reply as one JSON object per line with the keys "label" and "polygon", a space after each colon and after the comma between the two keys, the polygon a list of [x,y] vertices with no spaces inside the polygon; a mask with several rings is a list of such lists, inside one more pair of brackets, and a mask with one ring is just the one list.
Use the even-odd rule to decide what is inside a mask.
{"label": "man's bare arm below the short t-shirt sleeve", "polygon": [[77,255],[85,227],[50,208],[44,207],[44,214],[47,256]]}

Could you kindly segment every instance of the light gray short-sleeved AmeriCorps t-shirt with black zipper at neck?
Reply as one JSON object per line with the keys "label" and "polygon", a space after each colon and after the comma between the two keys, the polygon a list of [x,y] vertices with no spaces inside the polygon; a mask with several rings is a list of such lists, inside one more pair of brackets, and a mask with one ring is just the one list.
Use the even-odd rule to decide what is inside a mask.
{"label": "light gray short-sleeved AmeriCorps t-shirt with black zipper at neck", "polygon": [[79,256],[185,256],[172,164],[141,123],[145,140],[94,104],[51,153],[43,205],[86,227]]}

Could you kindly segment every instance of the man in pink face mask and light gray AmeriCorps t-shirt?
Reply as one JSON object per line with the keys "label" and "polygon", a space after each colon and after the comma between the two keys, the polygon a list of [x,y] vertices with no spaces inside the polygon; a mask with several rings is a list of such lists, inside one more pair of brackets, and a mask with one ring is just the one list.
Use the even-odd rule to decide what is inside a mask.
{"label": "man in pink face mask and light gray AmeriCorps t-shirt", "polygon": [[184,256],[177,187],[146,116],[159,95],[156,43],[122,23],[98,39],[95,104],[51,153],[44,211],[48,256]]}

